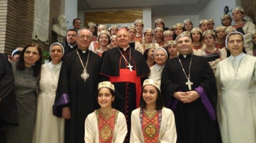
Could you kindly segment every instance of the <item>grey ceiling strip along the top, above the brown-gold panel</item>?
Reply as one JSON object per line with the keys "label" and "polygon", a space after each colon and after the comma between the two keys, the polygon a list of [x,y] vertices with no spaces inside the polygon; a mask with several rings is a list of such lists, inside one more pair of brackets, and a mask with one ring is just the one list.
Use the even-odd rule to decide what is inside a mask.
{"label": "grey ceiling strip along the top, above the brown-gold panel", "polygon": [[210,0],[78,0],[78,11],[151,8],[152,16],[198,15]]}

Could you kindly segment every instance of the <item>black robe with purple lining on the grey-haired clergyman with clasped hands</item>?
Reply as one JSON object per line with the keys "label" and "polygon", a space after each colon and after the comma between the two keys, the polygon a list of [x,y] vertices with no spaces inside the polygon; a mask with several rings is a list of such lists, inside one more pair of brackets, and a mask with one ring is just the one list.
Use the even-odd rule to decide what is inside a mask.
{"label": "black robe with purple lining on the grey-haired clergyman with clasped hands", "polygon": [[[174,92],[189,91],[186,75],[190,74],[193,82],[192,90],[196,90],[200,97],[191,103],[183,103],[173,97]],[[179,55],[168,60],[161,77],[161,91],[165,105],[174,112],[177,142],[187,143],[216,143],[219,139],[219,129],[216,127],[216,99],[217,88],[214,73],[204,57],[196,55]],[[192,58],[189,72],[190,60]]]}

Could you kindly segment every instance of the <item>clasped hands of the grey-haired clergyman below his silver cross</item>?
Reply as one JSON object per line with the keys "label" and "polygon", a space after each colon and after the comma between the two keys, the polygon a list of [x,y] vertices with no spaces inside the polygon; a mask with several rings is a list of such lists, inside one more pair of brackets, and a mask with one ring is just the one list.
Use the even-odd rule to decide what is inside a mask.
{"label": "clasped hands of the grey-haired clergyman below his silver cross", "polygon": [[173,96],[183,103],[191,103],[200,97],[197,91],[191,90],[187,92],[174,92]]}

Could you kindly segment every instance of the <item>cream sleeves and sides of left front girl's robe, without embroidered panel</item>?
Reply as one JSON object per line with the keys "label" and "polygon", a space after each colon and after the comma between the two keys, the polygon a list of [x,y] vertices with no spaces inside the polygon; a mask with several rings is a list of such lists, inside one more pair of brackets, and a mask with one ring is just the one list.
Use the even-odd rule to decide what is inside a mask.
{"label": "cream sleeves and sides of left front girl's robe, without embroidered panel", "polygon": [[[99,129],[96,111],[89,114],[84,123],[85,134],[84,141],[86,143],[99,143]],[[123,143],[127,133],[126,119],[122,112],[119,112],[113,131],[112,143]]]}

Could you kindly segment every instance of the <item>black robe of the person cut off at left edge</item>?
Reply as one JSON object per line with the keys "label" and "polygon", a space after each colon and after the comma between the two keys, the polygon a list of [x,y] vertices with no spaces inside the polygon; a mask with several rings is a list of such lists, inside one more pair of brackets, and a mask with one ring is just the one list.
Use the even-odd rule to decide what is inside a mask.
{"label": "black robe of the person cut off at left edge", "polygon": [[6,55],[0,53],[0,131],[19,124],[14,82],[12,65]]}

